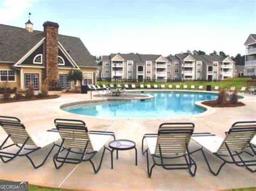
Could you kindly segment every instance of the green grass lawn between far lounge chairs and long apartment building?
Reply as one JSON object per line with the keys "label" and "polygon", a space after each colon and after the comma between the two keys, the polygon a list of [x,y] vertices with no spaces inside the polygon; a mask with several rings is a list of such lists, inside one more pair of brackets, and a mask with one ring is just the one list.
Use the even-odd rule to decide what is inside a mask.
{"label": "green grass lawn between far lounge chairs and long apartment building", "polygon": [[[228,78],[226,80],[222,81],[187,81],[187,82],[141,82],[141,83],[130,83],[130,82],[117,82],[116,84],[121,84],[122,86],[124,84],[129,84],[129,87],[131,87],[131,84],[135,84],[137,88],[139,88],[140,84],[144,84],[146,87],[146,84],[151,84],[151,87],[153,87],[154,84],[158,84],[158,88],[160,87],[160,84],[165,84],[165,87],[168,88],[169,84],[172,84],[172,87],[175,88],[176,84],[181,85],[181,89],[183,87],[183,84],[186,84],[188,89],[190,89],[191,85],[195,85],[195,89],[198,89],[198,86],[203,85],[203,88],[206,89],[206,85],[211,85],[212,89],[214,89],[214,86],[219,86],[220,89],[230,89],[231,86],[236,86],[236,90],[240,90],[241,87],[245,86],[247,87],[247,81],[251,80],[251,78]],[[114,84],[114,82],[109,81],[98,81],[98,84],[101,86],[102,84],[105,84],[106,86],[109,86],[109,84]],[[252,86],[252,84],[249,84],[249,86]]]}

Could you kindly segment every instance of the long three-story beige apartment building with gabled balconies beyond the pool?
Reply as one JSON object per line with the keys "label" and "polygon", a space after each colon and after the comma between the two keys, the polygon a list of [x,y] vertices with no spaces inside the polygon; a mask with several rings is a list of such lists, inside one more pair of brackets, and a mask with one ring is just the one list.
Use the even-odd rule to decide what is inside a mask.
{"label": "long three-story beige apartment building with gabled balconies beyond the pool", "polygon": [[102,78],[126,80],[222,80],[234,76],[230,57],[175,54],[110,54],[102,56]]}

